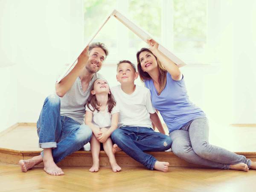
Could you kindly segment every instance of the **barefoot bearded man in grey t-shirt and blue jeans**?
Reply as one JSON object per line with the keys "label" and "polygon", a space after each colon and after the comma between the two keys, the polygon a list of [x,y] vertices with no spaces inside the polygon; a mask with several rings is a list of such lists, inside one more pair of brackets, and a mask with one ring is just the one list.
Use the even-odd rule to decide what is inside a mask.
{"label": "barefoot bearded man in grey t-shirt and blue jeans", "polygon": [[23,172],[43,161],[49,175],[64,175],[56,163],[90,141],[92,131],[84,125],[84,105],[93,81],[102,78],[97,72],[107,56],[104,44],[90,44],[79,55],[73,70],[55,84],[57,95],[45,99],[37,122],[39,147],[44,151],[29,160],[20,160]]}

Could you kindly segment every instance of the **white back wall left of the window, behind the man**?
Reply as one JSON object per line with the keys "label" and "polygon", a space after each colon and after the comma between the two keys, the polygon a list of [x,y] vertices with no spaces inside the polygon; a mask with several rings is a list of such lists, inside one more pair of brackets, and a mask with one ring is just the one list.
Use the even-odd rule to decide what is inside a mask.
{"label": "white back wall left of the window, behind the man", "polygon": [[45,97],[55,91],[59,69],[83,44],[82,1],[26,0],[15,6],[20,15],[18,121],[36,122]]}

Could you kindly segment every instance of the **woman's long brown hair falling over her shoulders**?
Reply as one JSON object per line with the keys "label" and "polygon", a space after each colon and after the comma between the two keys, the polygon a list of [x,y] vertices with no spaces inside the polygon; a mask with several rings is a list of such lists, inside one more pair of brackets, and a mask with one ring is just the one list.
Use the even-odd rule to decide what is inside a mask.
{"label": "woman's long brown hair falling over her shoulders", "polygon": [[[136,57],[137,57],[137,68],[138,68],[138,72],[140,74],[140,80],[145,82],[145,80],[150,80],[152,79],[151,76],[148,75],[147,72],[143,71],[140,65],[140,53],[146,51],[146,52],[150,52],[152,55],[154,55],[151,50],[147,49],[147,48],[141,48],[140,51],[137,52]],[[157,60],[157,70],[158,70],[158,82],[160,84],[160,91],[159,93],[157,93],[157,95],[160,95],[164,89],[164,87],[166,86],[166,73],[167,70],[163,67],[163,65],[161,64],[161,62],[157,59],[157,57],[154,55],[154,57]]]}

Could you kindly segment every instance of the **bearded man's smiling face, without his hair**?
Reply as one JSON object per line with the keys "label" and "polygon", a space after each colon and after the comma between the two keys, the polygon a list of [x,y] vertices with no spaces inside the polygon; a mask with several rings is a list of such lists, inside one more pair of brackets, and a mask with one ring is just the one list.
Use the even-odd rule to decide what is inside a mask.
{"label": "bearded man's smiling face, without his hair", "polygon": [[106,58],[105,51],[100,47],[94,47],[89,52],[89,59],[85,66],[86,69],[90,73],[98,72],[101,69],[102,63],[105,60],[105,58]]}

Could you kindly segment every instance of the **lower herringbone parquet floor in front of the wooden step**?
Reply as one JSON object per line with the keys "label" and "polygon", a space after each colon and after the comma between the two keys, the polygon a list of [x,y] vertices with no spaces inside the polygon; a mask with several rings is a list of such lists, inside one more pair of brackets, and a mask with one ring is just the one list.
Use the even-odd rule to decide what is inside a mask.
{"label": "lower herringbone parquet floor in front of the wooden step", "polygon": [[0,192],[255,192],[256,170],[249,172],[171,167],[169,172],[123,167],[114,173],[102,167],[63,167],[65,175],[51,176],[42,168],[24,173],[20,167],[0,163]]}

